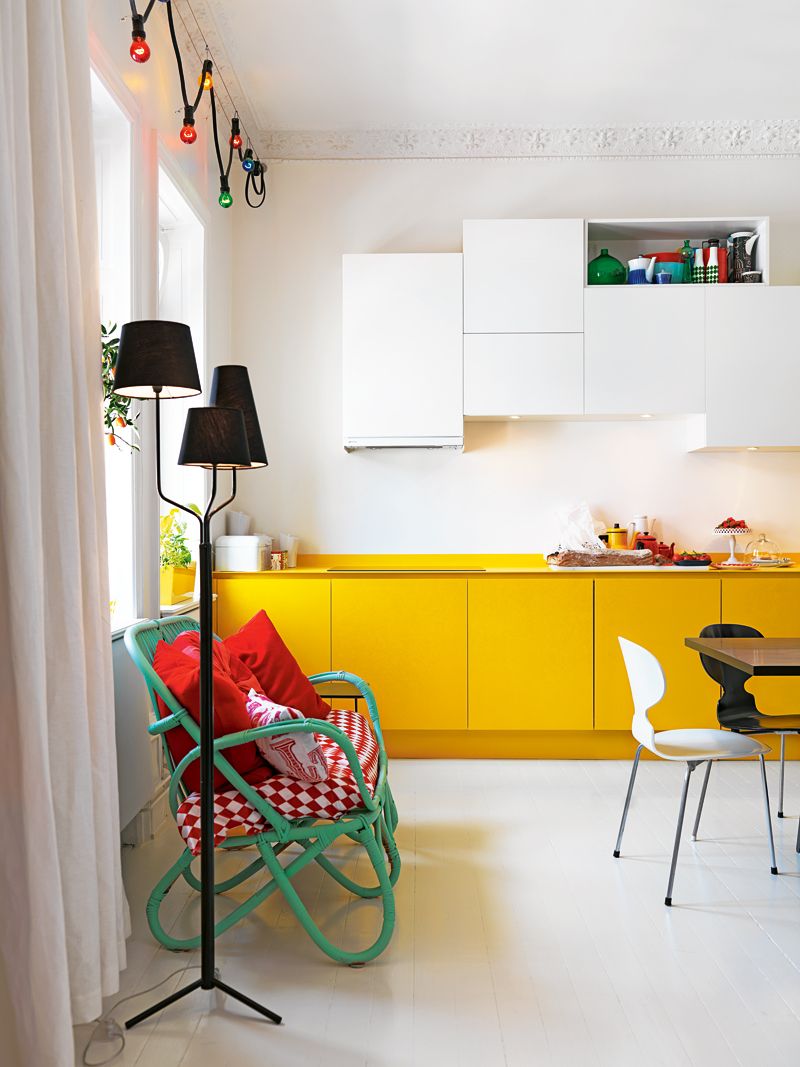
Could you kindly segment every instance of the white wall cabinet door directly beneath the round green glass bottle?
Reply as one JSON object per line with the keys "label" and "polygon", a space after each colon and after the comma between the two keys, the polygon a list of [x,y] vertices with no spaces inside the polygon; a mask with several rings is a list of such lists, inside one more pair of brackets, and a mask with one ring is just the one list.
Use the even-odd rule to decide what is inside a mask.
{"label": "white wall cabinet door directly beneath the round green glass bottle", "polygon": [[587,415],[705,411],[705,288],[586,288]]}

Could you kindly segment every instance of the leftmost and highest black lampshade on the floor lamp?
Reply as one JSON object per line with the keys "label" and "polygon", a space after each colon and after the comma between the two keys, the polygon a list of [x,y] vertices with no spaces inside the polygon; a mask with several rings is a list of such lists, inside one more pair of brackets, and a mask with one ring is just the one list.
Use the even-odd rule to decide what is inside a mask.
{"label": "leftmost and highest black lampshade on the floor lamp", "polygon": [[192,332],[183,322],[141,319],[119,331],[114,393],[138,400],[196,396],[201,392]]}

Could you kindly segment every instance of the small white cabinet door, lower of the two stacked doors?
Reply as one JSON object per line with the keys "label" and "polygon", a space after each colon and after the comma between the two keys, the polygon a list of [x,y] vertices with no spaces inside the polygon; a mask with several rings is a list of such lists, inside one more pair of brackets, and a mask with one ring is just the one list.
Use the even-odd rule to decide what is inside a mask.
{"label": "small white cabinet door, lower of the two stacked doors", "polygon": [[464,414],[582,415],[582,334],[467,334]]}

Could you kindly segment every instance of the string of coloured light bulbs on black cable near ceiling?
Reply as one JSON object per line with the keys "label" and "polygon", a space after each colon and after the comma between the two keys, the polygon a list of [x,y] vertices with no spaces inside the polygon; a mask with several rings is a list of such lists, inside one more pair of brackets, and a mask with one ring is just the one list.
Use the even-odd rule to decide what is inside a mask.
{"label": "string of coloured light bulbs on black cable near ceiling", "polygon": [[[141,14],[137,10],[137,0],[129,0],[129,2],[131,14],[130,58],[134,63],[146,63],[150,58],[150,46],[147,44],[145,22],[149,18],[150,13],[156,5],[156,0],[149,0],[147,6]],[[178,44],[177,33],[175,32],[172,0],[159,0],[159,4],[166,9],[166,21],[170,29],[170,39],[172,41],[173,51],[175,52],[175,64],[178,68],[178,82],[180,84],[180,97],[183,107],[183,125],[180,127],[180,140],[187,145],[192,145],[197,141],[197,130],[194,125],[195,115],[197,113],[197,108],[203,100],[203,94],[207,92],[211,108],[211,130],[214,142],[214,154],[217,156],[217,163],[220,171],[220,197],[218,203],[220,207],[224,208],[230,207],[234,203],[234,197],[230,192],[229,178],[230,166],[234,161],[234,155],[236,154],[239,162],[241,163],[242,171],[246,175],[244,180],[244,201],[249,207],[260,207],[267,198],[267,165],[260,161],[257,155],[254,154],[249,136],[246,147],[243,147],[244,139],[242,138],[241,123],[238,112],[235,111],[233,116],[228,120],[225,109],[222,105],[220,105],[220,110],[223,115],[225,115],[226,122],[229,122],[230,124],[230,136],[228,137],[227,143],[227,161],[223,162],[223,150],[220,146],[220,133],[217,118],[217,96],[213,89],[214,65],[211,58],[211,51],[208,47],[208,42],[205,36],[203,36],[203,32],[201,31],[201,36],[203,36],[203,41],[206,45],[206,59],[203,60],[199,77],[197,78],[197,93],[194,96],[194,99],[190,100],[187,91],[186,74],[183,70],[183,58],[180,54],[180,46]],[[194,12],[192,12],[192,15],[194,15]],[[180,12],[178,12],[178,16],[180,17]],[[181,22],[182,21],[181,17]],[[197,20],[195,18],[195,22]],[[183,23],[183,27],[186,29],[186,23]],[[222,83],[227,92],[227,85],[225,85],[224,78],[222,79]],[[228,93],[228,97],[233,102],[230,93]]]}

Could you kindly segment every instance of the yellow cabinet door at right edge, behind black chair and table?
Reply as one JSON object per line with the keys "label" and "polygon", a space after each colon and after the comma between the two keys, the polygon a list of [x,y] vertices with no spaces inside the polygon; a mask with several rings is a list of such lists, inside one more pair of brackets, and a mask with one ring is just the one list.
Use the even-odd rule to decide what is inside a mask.
{"label": "yellow cabinet door at right edge, behind black chair and table", "polygon": [[[800,637],[800,580],[740,575],[722,584],[722,621],[755,626],[765,637]],[[767,715],[800,712],[800,678],[757,678],[748,682],[758,710]]]}

